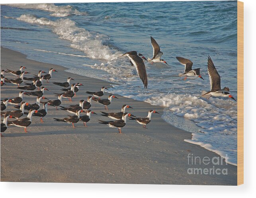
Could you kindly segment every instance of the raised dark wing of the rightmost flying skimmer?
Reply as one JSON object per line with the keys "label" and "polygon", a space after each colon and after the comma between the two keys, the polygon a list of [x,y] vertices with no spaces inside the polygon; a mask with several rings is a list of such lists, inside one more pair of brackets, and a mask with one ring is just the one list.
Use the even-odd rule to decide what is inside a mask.
{"label": "raised dark wing of the rightmost flying skimmer", "polygon": [[217,91],[221,89],[221,77],[217,69],[215,68],[211,57],[208,56],[208,74],[210,79],[211,91]]}

